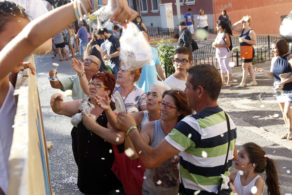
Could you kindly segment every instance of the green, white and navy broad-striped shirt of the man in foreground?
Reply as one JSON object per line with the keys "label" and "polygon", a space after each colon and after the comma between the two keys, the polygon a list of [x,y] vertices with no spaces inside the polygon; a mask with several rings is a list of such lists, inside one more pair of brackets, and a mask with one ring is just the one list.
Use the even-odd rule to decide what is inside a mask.
{"label": "green, white and navy broad-striped shirt of the man in foreground", "polygon": [[[228,187],[228,176],[232,165],[236,141],[236,127],[230,116],[231,141],[220,194],[233,194]],[[216,193],[226,158],[228,146],[227,122],[219,107],[205,108],[201,112],[185,117],[165,137],[166,141],[181,151],[179,193]]]}

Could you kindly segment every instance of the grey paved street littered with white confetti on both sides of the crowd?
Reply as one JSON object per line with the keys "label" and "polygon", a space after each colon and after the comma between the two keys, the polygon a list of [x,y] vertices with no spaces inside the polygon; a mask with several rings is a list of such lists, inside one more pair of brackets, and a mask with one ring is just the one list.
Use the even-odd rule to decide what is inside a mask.
{"label": "grey paved street littered with white confetti on both sides of the crowd", "polygon": [[[80,57],[77,56],[77,59]],[[48,151],[53,191],[56,195],[81,194],[74,184],[74,180],[77,179],[77,166],[71,148],[70,118],[53,113],[50,106],[50,97],[54,93],[63,94],[64,101],[71,101],[72,98],[65,97],[65,92],[59,89],[52,89],[47,79],[52,63],[59,63],[57,69],[59,78],[75,74],[71,68],[71,61],[58,62],[58,58],[51,59],[50,54],[35,56],[35,61],[46,140],[53,143],[51,150]],[[260,66],[269,69],[269,63]],[[288,170],[292,171],[292,141],[279,139],[279,136],[284,134],[284,121],[279,106],[274,101],[271,87],[273,79],[257,74],[258,86],[239,89],[235,86],[240,83],[241,70],[234,68],[233,71],[233,85],[229,89],[222,88],[218,103],[230,113],[237,125],[238,149],[242,144],[251,141],[262,146],[267,156],[274,159],[279,167],[281,194],[292,193],[292,175],[287,173]],[[260,100],[259,95],[263,99]],[[274,113],[280,116],[278,118],[268,116]],[[264,177],[263,174],[261,176]],[[267,194],[266,189],[263,194]]]}

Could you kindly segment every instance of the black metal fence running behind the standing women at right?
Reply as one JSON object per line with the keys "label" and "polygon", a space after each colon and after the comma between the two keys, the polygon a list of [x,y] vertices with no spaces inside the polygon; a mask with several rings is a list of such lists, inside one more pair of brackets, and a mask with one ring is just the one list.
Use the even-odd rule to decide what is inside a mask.
{"label": "black metal fence running behind the standing women at right", "polygon": [[[255,56],[253,58],[253,64],[271,60],[273,57],[273,54],[271,52],[272,42],[279,37],[272,37],[270,35],[267,36],[258,35],[256,37],[257,43],[254,45]],[[240,42],[238,38],[239,36],[231,38],[233,49],[230,54],[230,62],[234,62],[235,66],[239,66],[242,64],[239,48]],[[289,52],[292,53],[292,42],[288,42],[288,46]],[[212,44],[208,44],[193,51],[193,63],[194,64],[208,63],[219,69],[218,60],[215,57],[215,48],[212,47]],[[173,73],[172,71],[167,70],[166,65],[164,65],[164,70],[166,77],[170,76]]]}

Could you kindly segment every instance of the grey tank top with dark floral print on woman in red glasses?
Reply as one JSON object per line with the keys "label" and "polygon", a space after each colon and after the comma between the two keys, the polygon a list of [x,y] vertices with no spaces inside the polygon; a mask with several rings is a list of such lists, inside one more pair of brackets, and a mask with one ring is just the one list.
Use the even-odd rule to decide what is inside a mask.
{"label": "grey tank top with dark floral print on woman in red glasses", "polygon": [[[153,140],[150,146],[156,147],[166,134],[161,127],[161,119],[154,121]],[[146,169],[144,176],[146,179],[142,185],[142,194],[177,195],[179,187],[178,171],[173,170],[174,165],[171,159],[167,160],[159,167]],[[159,184],[159,180],[161,184]]]}

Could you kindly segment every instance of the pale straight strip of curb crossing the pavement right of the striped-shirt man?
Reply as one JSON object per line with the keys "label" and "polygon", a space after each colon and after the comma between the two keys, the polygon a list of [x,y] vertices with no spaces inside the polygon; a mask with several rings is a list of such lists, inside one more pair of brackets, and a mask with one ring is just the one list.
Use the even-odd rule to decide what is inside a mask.
{"label": "pale straight strip of curb crossing the pavement right of the striped-shirt man", "polygon": [[245,122],[244,120],[240,120],[239,118],[232,117],[232,115],[230,115],[230,117],[232,118],[233,122],[237,124],[237,126],[243,127],[246,130],[256,133],[260,135],[261,137],[265,139],[269,139],[270,141],[273,141],[274,143],[284,146],[285,148],[292,151],[292,141],[288,141],[287,139],[280,139],[279,135],[276,135],[274,133],[265,131],[261,128],[255,127],[249,124],[248,122]]}

